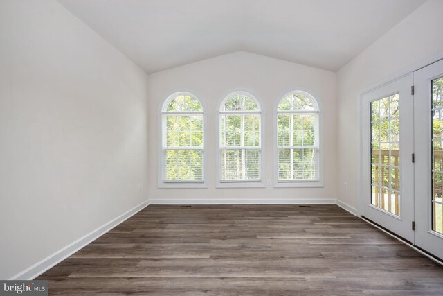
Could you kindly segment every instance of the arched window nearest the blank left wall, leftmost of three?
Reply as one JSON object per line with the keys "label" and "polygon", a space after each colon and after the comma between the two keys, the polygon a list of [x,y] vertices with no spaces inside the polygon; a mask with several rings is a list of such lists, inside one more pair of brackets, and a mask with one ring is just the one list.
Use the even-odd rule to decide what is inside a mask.
{"label": "arched window nearest the blank left wall, leftmost of three", "polygon": [[163,183],[203,182],[204,114],[188,92],[172,94],[162,109]]}

